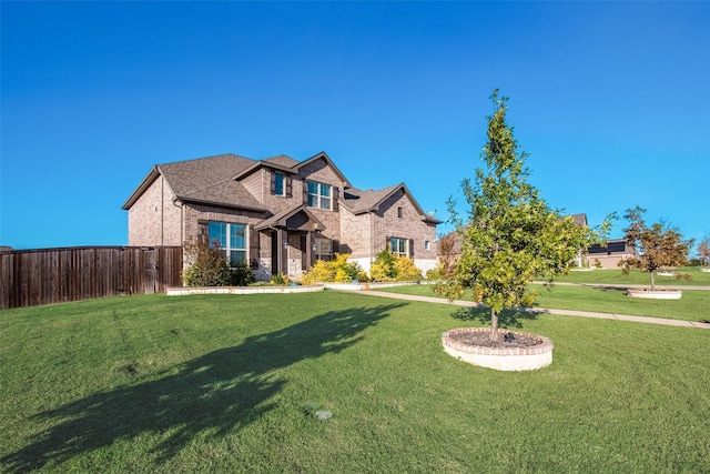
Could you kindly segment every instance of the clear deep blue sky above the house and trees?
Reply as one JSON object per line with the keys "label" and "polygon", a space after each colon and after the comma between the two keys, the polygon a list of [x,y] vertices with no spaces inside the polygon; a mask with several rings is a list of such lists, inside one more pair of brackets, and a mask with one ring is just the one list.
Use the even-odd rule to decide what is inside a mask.
{"label": "clear deep blue sky above the house and trees", "polygon": [[154,164],[221,153],[325,151],[445,220],[496,88],[552,206],[710,233],[710,3],[0,8],[1,245],[126,244],[121,205]]}

